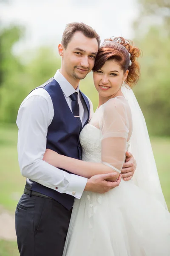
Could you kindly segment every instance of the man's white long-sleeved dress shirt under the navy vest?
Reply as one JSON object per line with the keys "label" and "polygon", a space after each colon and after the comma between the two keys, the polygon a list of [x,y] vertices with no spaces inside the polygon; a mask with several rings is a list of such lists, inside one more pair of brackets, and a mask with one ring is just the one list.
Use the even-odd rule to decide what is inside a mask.
{"label": "man's white long-sleeved dress shirt under the navy vest", "polygon": [[[88,111],[82,96],[57,70],[54,79],[59,83],[65,100],[71,109],[71,94],[78,92],[79,112],[82,125],[88,119]],[[90,99],[90,119],[93,105]],[[71,109],[72,111],[72,109]],[[87,178],[62,171],[42,160],[46,150],[48,126],[54,117],[54,108],[49,93],[43,88],[33,90],[20,105],[18,126],[18,161],[21,174],[43,186],[60,193],[81,198]],[[57,131],[57,127],[56,127]]]}

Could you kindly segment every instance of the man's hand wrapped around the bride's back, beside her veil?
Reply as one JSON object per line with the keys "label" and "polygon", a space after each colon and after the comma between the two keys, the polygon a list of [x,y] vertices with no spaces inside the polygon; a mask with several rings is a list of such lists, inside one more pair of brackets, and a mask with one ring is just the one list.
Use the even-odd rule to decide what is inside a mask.
{"label": "man's hand wrapped around the bride's back, beside her veil", "polygon": [[124,180],[131,180],[135,170],[136,170],[136,160],[134,159],[132,153],[126,152],[126,162],[123,164],[123,168],[121,171],[122,178]]}

